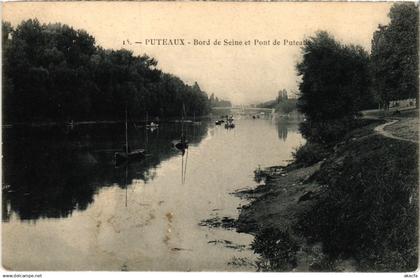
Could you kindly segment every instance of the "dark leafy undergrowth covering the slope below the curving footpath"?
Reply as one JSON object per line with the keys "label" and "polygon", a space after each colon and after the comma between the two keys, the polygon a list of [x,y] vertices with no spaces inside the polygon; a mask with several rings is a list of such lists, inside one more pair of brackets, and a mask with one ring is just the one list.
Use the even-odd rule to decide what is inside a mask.
{"label": "dark leafy undergrowth covering the slope below the curving footpath", "polygon": [[355,258],[360,270],[415,270],[417,159],[415,144],[380,136],[343,145],[316,174],[327,191],[300,229],[332,257]]}

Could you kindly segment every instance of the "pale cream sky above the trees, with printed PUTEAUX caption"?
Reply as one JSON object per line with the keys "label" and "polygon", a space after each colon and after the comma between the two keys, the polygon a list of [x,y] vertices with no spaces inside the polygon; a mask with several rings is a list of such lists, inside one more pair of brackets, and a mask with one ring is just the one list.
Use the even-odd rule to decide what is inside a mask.
{"label": "pale cream sky above the trees, with printed PUTEAUX caption", "polygon": [[[378,24],[387,24],[390,2],[8,2],[3,20],[16,26],[37,18],[84,29],[103,48],[132,50],[208,94],[234,104],[297,92],[300,42],[318,30],[370,51]],[[185,45],[151,45],[182,39]],[[211,45],[194,45],[194,40]],[[222,45],[214,45],[215,40]],[[224,40],[242,45],[223,45]],[[258,41],[255,41],[258,40]],[[249,45],[245,45],[249,41]],[[265,41],[265,43],[264,43]],[[269,41],[269,45],[267,45]],[[274,45],[274,41],[279,45]],[[135,43],[139,42],[139,43]],[[141,43],[141,44],[140,44]],[[167,43],[170,43],[167,41]]]}

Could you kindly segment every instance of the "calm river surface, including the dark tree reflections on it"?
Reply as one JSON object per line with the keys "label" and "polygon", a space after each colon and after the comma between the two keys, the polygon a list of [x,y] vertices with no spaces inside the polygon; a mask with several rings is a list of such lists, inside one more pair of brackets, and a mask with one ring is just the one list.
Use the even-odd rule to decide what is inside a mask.
{"label": "calm river surface, including the dark tree reflections on it", "polygon": [[[3,266],[13,270],[255,271],[253,236],[200,225],[236,218],[230,194],[257,185],[259,165],[286,164],[297,124],[239,119],[130,129],[146,160],[115,167],[122,125],[3,129]],[[183,167],[186,169],[183,174]]]}

